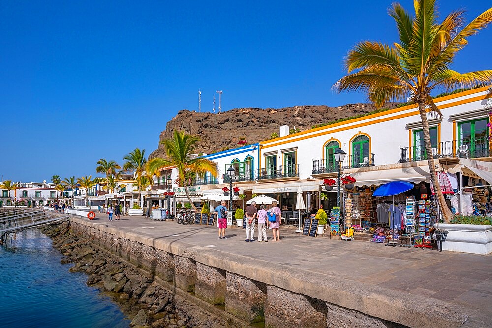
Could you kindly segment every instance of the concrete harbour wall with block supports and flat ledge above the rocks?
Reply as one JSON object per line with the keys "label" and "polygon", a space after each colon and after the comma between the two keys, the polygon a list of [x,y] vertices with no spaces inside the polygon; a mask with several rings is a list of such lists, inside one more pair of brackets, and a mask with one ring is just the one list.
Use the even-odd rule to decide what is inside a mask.
{"label": "concrete harbour wall with block supports and flat ledge above the rocks", "polygon": [[[72,218],[70,229],[149,277],[210,306],[223,305],[247,327],[459,327],[467,316],[449,303],[365,286],[322,273],[218,254],[207,247],[147,238]],[[368,264],[369,265],[369,264]],[[165,283],[168,284],[168,283]],[[220,316],[220,313],[217,314]],[[234,326],[238,326],[235,324]],[[241,326],[241,325],[240,325]]]}

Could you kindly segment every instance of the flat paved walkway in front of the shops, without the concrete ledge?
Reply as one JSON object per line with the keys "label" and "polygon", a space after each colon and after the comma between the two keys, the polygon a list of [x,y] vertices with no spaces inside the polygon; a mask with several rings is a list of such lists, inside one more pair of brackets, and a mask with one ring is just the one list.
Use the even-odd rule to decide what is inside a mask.
{"label": "flat paved walkway in front of the shops, without the concrete ledge", "polygon": [[[99,218],[100,217],[100,218]],[[99,214],[93,221],[126,232],[205,246],[217,252],[274,262],[410,294],[435,298],[478,309],[492,323],[492,257],[438,252],[407,247],[385,247],[365,241],[338,241],[326,237],[297,235],[281,228],[281,241],[245,242],[246,231],[228,228],[228,239],[218,239],[216,227],[178,225],[175,221],[152,221],[144,217],[122,217],[108,221]],[[257,231],[255,240],[257,240]],[[327,277],[329,283],[329,277]]]}

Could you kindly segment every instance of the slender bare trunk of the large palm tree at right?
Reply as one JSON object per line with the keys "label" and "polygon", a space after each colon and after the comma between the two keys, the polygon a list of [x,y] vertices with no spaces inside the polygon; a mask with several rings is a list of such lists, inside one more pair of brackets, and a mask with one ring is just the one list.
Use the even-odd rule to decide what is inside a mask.
{"label": "slender bare trunk of the large palm tree at right", "polygon": [[429,133],[429,124],[427,122],[427,112],[423,101],[419,101],[419,113],[422,120],[422,130],[424,134],[424,145],[426,149],[427,164],[429,165],[429,171],[431,172],[431,183],[434,186],[434,192],[437,195],[437,201],[439,202],[439,208],[441,210],[445,223],[451,222],[453,214],[449,210],[444,195],[442,194],[441,186],[437,180],[437,174],[434,166],[434,154],[432,153],[431,135]]}

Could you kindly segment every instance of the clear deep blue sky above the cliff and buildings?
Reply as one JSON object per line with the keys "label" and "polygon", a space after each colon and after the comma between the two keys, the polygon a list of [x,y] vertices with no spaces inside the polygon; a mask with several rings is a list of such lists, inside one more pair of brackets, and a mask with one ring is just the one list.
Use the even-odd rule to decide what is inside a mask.
{"label": "clear deep blue sky above the cliff and buildings", "polygon": [[[390,0],[2,1],[0,174],[15,181],[94,175],[122,162],[181,109],[338,106],[342,59],[356,42],[396,41]],[[487,1],[441,0],[440,12]],[[413,1],[400,1],[409,10]],[[492,29],[470,39],[454,69],[490,69]],[[218,101],[217,101],[218,107]]]}

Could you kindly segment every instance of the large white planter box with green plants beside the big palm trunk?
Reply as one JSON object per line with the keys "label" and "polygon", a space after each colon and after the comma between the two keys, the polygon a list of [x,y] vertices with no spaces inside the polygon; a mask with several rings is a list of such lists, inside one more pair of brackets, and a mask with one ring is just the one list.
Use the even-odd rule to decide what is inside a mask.
{"label": "large white planter box with green plants beside the big palm trunk", "polygon": [[492,253],[491,225],[439,223],[439,229],[448,231],[446,241],[442,242],[442,250],[481,255]]}

